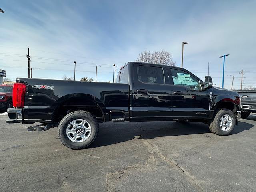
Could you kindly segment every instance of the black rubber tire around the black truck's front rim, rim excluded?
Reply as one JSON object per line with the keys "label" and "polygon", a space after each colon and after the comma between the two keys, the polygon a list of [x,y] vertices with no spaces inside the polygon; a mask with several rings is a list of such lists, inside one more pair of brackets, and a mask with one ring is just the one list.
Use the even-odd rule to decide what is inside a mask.
{"label": "black rubber tire around the black truck's front rim, rim excluded", "polygon": [[[220,128],[220,118],[225,114],[230,115],[232,118],[232,126],[228,131],[223,131]],[[210,131],[213,132],[214,134],[224,136],[224,135],[230,134],[233,131],[235,124],[236,124],[236,118],[233,112],[228,109],[220,108],[220,109],[217,109],[216,113],[214,114],[214,118],[210,121],[209,128],[210,128]]]}

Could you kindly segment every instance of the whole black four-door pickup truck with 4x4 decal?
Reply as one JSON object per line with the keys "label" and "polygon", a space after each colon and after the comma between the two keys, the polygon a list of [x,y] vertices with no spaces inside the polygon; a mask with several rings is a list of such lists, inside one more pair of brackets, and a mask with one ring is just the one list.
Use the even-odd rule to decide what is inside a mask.
{"label": "whole black four-door pickup truck with 4x4 decal", "polygon": [[218,135],[228,135],[241,116],[236,92],[212,87],[184,68],[129,62],[118,83],[16,78],[7,123],[58,126],[68,148],[89,146],[99,122],[198,121]]}

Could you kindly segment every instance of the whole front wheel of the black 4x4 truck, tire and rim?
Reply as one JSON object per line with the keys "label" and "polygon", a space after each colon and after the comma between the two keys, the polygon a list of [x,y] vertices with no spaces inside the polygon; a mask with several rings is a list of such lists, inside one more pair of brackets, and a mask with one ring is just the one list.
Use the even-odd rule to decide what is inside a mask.
{"label": "whole front wheel of the black 4x4 truck, tire and rim", "polygon": [[228,135],[232,132],[236,124],[236,118],[232,111],[228,109],[219,109],[214,119],[210,122],[211,132],[217,135]]}

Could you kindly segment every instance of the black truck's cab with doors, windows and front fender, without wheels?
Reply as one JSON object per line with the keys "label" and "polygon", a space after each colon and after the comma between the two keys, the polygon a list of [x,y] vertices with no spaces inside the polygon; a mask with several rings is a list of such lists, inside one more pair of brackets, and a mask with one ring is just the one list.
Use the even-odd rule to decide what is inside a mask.
{"label": "black truck's cab with doors, windows and front fender, without wheels", "polygon": [[208,86],[184,68],[129,62],[118,72],[117,82],[130,85],[131,121],[205,121],[216,108],[236,115],[239,111],[236,92],[214,88],[212,82]]}

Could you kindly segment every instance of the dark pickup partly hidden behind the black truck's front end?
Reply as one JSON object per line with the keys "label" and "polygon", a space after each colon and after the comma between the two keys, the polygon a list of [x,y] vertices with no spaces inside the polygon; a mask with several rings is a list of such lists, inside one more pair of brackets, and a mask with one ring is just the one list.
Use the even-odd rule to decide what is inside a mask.
{"label": "dark pickup partly hidden behind the black truck's front end", "polygon": [[241,118],[246,119],[251,112],[256,113],[256,90],[236,91],[241,96]]}

